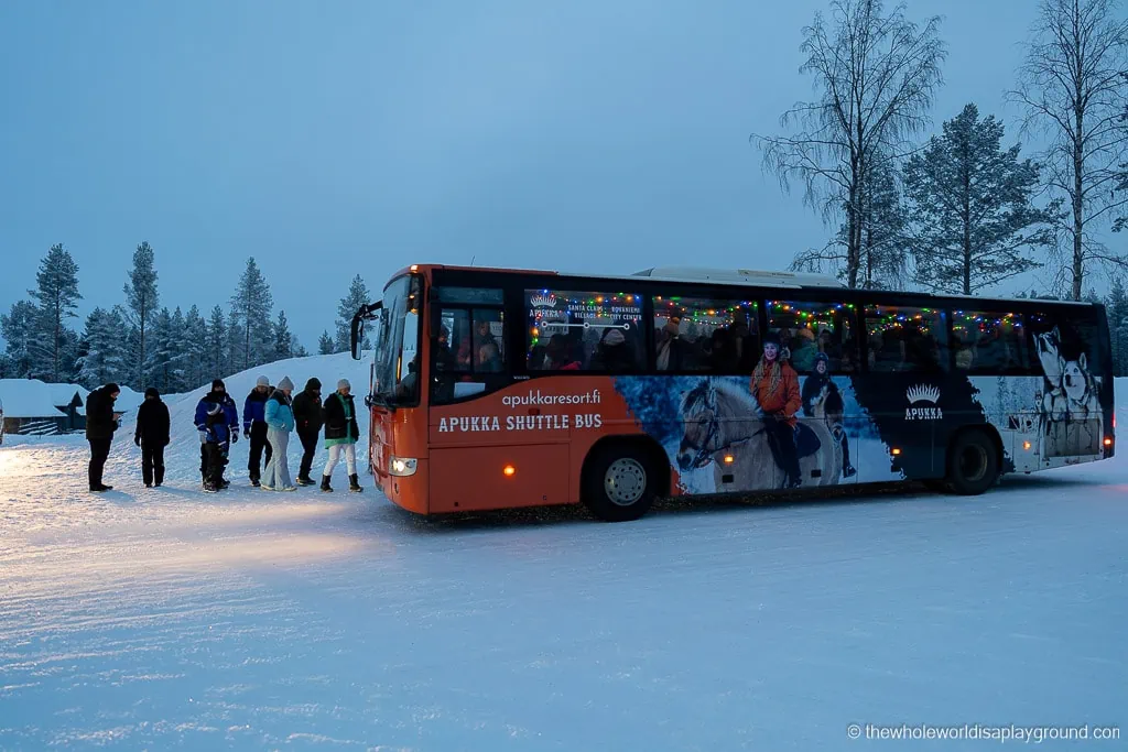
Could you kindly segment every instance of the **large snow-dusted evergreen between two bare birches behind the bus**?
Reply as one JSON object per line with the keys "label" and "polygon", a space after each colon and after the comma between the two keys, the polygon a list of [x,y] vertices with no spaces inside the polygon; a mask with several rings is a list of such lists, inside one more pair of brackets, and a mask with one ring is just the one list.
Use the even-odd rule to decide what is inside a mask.
{"label": "large snow-dusted evergreen between two bare birches behind the bus", "polygon": [[943,130],[905,167],[913,255],[922,284],[970,295],[1040,266],[1030,251],[1054,242],[1058,205],[1031,204],[1039,168],[1003,151],[994,115],[967,105]]}

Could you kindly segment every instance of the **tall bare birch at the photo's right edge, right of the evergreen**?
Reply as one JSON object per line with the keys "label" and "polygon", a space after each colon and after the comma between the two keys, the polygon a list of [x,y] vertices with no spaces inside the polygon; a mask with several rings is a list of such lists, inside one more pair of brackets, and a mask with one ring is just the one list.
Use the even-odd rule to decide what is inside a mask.
{"label": "tall bare birch at the photo's right edge, right of the evergreen", "polygon": [[1128,203],[1116,188],[1128,152],[1125,94],[1128,21],[1116,0],[1042,0],[1019,81],[1010,94],[1025,109],[1024,130],[1048,141],[1039,156],[1046,186],[1065,198],[1058,223],[1056,286],[1081,300],[1094,266],[1128,268],[1095,231]]}

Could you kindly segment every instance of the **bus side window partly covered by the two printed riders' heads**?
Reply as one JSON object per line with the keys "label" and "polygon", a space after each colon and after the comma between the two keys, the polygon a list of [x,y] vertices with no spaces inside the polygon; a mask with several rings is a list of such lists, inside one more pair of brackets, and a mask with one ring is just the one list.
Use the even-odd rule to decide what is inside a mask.
{"label": "bus side window partly covered by the two printed riders' heads", "polygon": [[796,372],[812,373],[819,360],[826,360],[829,373],[857,369],[853,303],[769,300],[767,312],[768,329],[778,335]]}

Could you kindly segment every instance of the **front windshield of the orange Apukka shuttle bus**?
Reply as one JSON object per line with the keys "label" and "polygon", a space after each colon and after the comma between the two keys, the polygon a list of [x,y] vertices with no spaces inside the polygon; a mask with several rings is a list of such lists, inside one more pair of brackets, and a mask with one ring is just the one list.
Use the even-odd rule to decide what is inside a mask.
{"label": "front windshield of the orange Apukka shuttle bus", "polygon": [[418,400],[420,302],[415,274],[393,281],[384,291],[373,396],[388,404]]}

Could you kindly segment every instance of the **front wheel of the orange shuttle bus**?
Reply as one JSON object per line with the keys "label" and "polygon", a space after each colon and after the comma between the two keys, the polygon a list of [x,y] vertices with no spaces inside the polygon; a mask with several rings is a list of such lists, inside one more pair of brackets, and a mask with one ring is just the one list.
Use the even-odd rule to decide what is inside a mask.
{"label": "front wheel of the orange shuttle bus", "polygon": [[636,443],[616,442],[589,458],[581,498],[600,520],[627,522],[650,510],[658,488],[658,474],[646,451]]}

